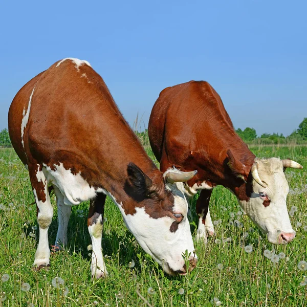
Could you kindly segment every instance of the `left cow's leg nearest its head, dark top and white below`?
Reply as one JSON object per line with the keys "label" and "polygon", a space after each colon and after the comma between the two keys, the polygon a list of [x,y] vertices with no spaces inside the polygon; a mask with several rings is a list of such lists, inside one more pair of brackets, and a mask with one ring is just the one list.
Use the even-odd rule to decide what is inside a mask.
{"label": "left cow's leg nearest its head, dark top and white below", "polygon": [[96,278],[107,275],[101,248],[105,198],[105,194],[98,193],[97,197],[90,201],[90,210],[87,217],[87,227],[89,228],[93,246],[91,271],[92,276]]}

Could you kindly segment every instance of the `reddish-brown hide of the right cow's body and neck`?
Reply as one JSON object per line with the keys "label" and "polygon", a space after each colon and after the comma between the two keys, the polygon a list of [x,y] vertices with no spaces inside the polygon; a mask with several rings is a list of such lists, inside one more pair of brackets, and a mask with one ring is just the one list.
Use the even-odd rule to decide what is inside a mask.
{"label": "reddish-brown hide of the right cow's body and neck", "polygon": [[206,181],[247,198],[245,181],[255,156],[235,133],[221,97],[208,82],[164,89],[152,108],[148,134],[161,171],[172,165],[197,169],[190,187]]}

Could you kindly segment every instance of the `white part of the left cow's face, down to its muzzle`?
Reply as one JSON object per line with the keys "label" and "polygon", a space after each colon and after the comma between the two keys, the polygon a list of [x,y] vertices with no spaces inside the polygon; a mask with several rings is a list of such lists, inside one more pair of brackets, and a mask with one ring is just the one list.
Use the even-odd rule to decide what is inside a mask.
{"label": "white part of the left cow's face, down to its muzzle", "polygon": [[182,254],[185,250],[191,253],[190,259],[197,259],[197,256],[193,253],[193,239],[187,218],[188,203],[183,184],[181,182],[167,184],[167,188],[174,195],[173,211],[184,216],[175,232],[170,231],[175,221],[173,218],[169,216],[152,218],[145,212],[144,207],[137,207],[135,214],[126,215],[122,204],[118,204],[111,194],[108,193],[108,195],[119,207],[127,228],[134,234],[143,250],[151,255],[168,274],[172,274],[172,271],[182,270],[184,266]]}

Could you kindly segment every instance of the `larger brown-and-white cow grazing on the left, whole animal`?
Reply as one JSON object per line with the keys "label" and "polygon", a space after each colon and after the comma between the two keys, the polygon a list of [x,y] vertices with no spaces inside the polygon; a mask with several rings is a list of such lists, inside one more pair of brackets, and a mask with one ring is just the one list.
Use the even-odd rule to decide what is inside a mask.
{"label": "larger brown-and-white cow grazing on the left, whole animal", "polygon": [[53,208],[48,185],[57,199],[57,249],[67,245],[71,206],[91,200],[87,226],[93,276],[107,274],[101,250],[106,195],[118,206],[140,246],[167,273],[186,273],[182,257],[186,250],[189,269],[195,267],[182,182],[196,171],[158,170],[89,62],[63,59],[34,77],[16,94],[8,121],[13,147],[29,170],[37,205],[37,269],[49,266],[50,260],[48,228]]}

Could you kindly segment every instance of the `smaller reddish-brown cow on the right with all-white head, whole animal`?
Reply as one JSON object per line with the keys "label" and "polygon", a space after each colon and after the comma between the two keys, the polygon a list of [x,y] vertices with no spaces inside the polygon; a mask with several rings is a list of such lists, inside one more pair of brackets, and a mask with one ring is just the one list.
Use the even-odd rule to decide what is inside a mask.
{"label": "smaller reddish-brown cow on the right with all-white head, whole animal", "polygon": [[190,81],[164,89],[152,108],[148,134],[160,170],[171,166],[198,173],[186,193],[201,189],[196,203],[198,238],[214,233],[209,213],[212,189],[223,185],[236,195],[251,220],[271,243],[288,243],[294,236],[283,170],[302,168],[292,160],[258,159],[238,137],[220,96],[205,81]]}

